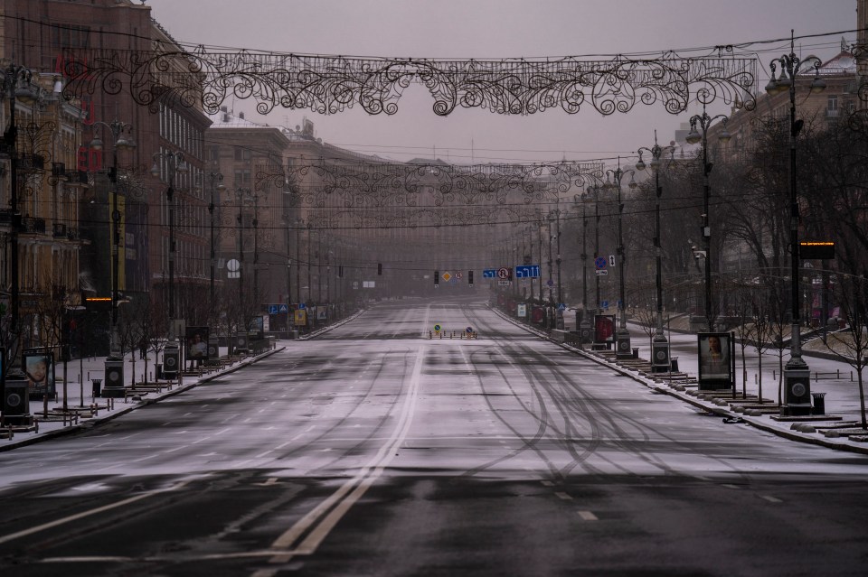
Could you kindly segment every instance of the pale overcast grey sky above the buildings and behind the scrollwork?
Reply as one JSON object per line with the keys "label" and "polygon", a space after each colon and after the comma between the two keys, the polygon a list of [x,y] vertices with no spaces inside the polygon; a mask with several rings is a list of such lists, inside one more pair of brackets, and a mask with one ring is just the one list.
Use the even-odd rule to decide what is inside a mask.
{"label": "pale overcast grey sky above the buildings and behind the scrollwork", "polygon": [[[856,0],[147,0],[179,42],[348,56],[533,58],[662,52],[826,34],[797,42],[824,60],[842,36],[854,42]],[[758,46],[760,88],[768,63],[788,41]],[[552,108],[531,116],[458,108],[439,117],[423,87],[410,87],[394,116],[360,107],[333,116],[276,108],[256,118],[252,101],[227,102],[270,125],[314,121],[325,142],[396,160],[436,154],[452,163],[531,163],[611,158],[668,143],[699,109],[670,115],[638,104],[601,116],[593,107],[568,115]],[[726,112],[726,107],[710,112]]]}

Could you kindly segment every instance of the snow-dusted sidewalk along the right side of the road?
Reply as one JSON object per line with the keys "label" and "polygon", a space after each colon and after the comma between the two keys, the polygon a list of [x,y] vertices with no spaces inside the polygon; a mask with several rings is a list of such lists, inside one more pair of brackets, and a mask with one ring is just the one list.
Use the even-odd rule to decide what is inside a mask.
{"label": "snow-dusted sidewalk along the right side of the road", "polygon": [[[503,312],[495,308],[492,310],[505,319],[516,322]],[[638,358],[624,361],[616,360],[613,352],[580,349],[578,346],[553,338],[542,330],[519,324],[525,330],[609,366],[658,392],[681,399],[703,412],[718,414],[726,423],[748,424],[792,441],[868,454],[868,431],[861,428],[862,414],[857,377],[854,368],[844,360],[829,358],[830,356],[820,358],[804,355],[803,358],[810,368],[811,394],[825,394],[823,398],[826,405],[825,414],[781,417],[778,406],[780,367],[777,350],[766,351],[762,355],[760,368],[760,356],[753,347],[747,347],[744,350],[747,381],[742,382],[741,346],[736,343],[736,395],[741,398],[733,399],[731,389],[698,390],[696,376],[699,368],[699,347],[695,334],[666,333],[666,339],[670,343],[671,358],[678,360],[679,372],[670,375],[650,372],[650,361],[646,359],[651,358],[651,343],[645,330],[635,323],[627,322],[627,329],[631,335],[631,348],[638,349]],[[785,350],[783,355],[785,365],[788,358],[788,350]],[[756,401],[760,393],[760,377],[764,401],[762,404]],[[868,388],[868,370],[863,377]],[[742,396],[742,392],[747,394],[747,399]]]}

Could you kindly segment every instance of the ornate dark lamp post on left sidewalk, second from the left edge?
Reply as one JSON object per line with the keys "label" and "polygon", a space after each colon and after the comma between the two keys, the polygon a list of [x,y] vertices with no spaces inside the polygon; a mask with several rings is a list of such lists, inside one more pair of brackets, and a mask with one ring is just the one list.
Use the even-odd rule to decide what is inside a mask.
{"label": "ornate dark lamp post on left sidewalk, second from the left edge", "polygon": [[[96,121],[94,126],[105,126],[111,132],[114,142],[111,156],[111,168],[109,168],[109,181],[111,182],[111,330],[109,342],[109,356],[105,361],[105,386],[102,396],[124,396],[124,358],[120,351],[120,338],[118,336],[118,280],[119,280],[119,253],[120,253],[120,210],[118,210],[118,150],[129,150],[136,147],[130,137],[132,126],[113,120],[110,123]],[[90,141],[90,148],[102,150],[103,143],[99,136],[94,136]]]}

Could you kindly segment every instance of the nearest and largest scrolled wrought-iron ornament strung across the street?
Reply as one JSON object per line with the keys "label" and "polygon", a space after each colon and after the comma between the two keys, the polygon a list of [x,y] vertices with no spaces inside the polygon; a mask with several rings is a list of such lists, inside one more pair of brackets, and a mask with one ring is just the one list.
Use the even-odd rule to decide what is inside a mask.
{"label": "nearest and largest scrolled wrought-iron ornament strung across the street", "polygon": [[662,103],[678,114],[698,91],[754,107],[757,60],[675,52],[637,60],[434,60],[211,51],[201,45],[184,51],[156,44],[153,51],[68,50],[64,75],[70,80],[67,98],[128,91],[152,109],[168,99],[188,107],[202,103],[212,114],[227,98],[253,98],[263,115],[275,107],[336,114],[356,105],[371,115],[393,115],[414,82],[429,89],[439,116],[457,107],[531,115],[554,107],[575,114],[587,106],[610,115],[637,103]]}

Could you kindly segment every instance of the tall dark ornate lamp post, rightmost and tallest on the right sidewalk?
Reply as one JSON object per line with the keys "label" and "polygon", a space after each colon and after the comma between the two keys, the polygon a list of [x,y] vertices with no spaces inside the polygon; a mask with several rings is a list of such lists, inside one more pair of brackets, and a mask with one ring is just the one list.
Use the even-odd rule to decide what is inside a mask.
{"label": "tall dark ornate lamp post, rightmost and tallest on the right sidewalk", "polygon": [[[769,67],[771,78],[766,86],[769,94],[789,91],[789,241],[790,241],[790,284],[792,301],[792,329],[790,335],[789,360],[784,367],[784,386],[786,388],[786,407],[781,407],[781,413],[788,415],[804,415],[811,413],[811,379],[810,368],[802,358],[800,292],[798,286],[798,196],[796,186],[796,137],[804,126],[804,121],[796,119],[796,76],[799,70],[807,64],[814,69],[814,79],[811,81],[812,92],[826,88],[826,82],[820,78],[822,60],[810,55],[799,58],[796,55],[795,41],[790,31],[789,54],[772,60]],[[775,78],[777,64],[780,64],[780,76]]]}

